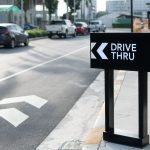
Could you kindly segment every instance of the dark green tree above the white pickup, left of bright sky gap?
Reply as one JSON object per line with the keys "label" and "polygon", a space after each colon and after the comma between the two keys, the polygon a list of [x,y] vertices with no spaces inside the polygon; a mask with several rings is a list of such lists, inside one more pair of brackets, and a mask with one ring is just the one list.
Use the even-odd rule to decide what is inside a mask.
{"label": "dark green tree above the white pickup, left of bright sky gap", "polygon": [[49,20],[51,21],[51,15],[57,10],[58,0],[45,0],[45,5],[48,9]]}

